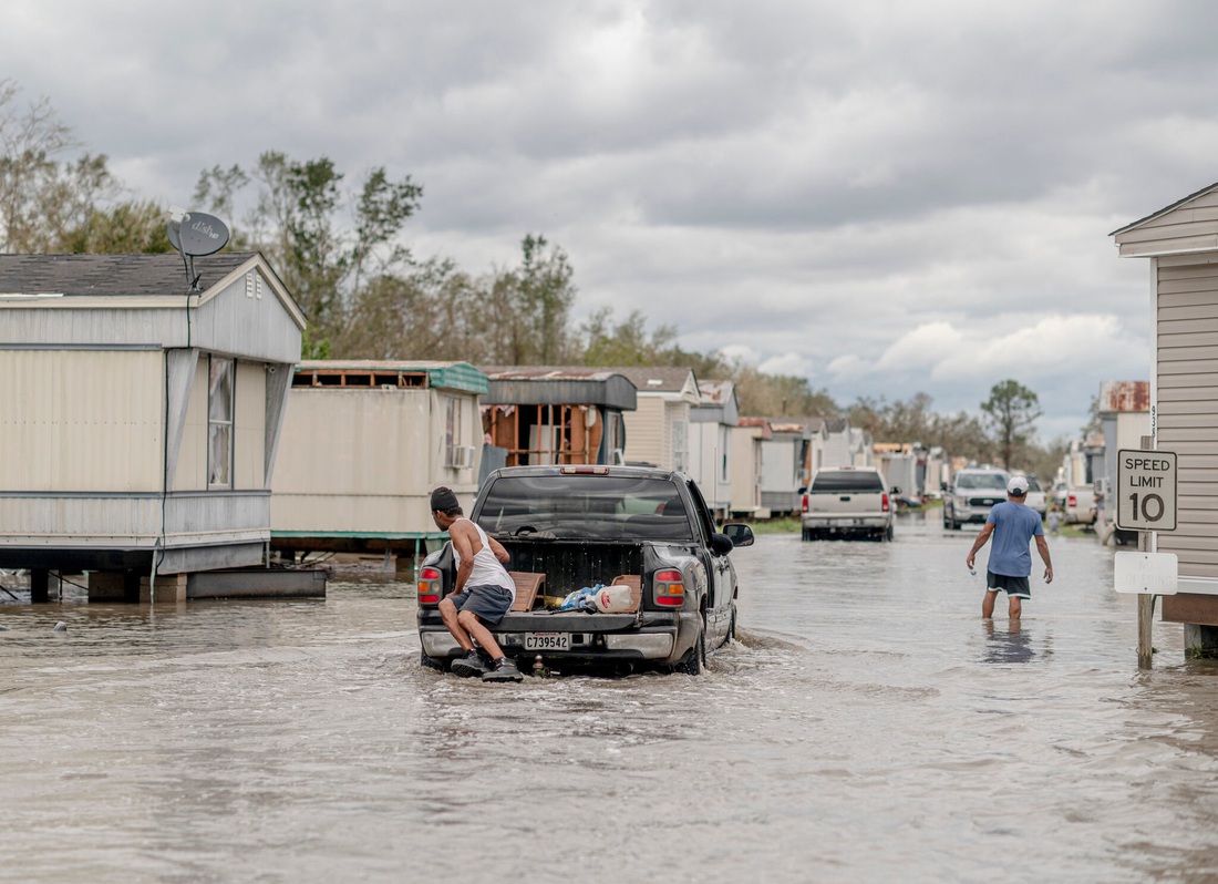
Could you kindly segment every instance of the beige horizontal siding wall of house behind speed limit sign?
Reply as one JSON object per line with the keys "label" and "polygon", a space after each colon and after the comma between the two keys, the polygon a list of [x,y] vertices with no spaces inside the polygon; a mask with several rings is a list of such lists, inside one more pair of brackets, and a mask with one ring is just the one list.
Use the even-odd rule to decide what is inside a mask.
{"label": "beige horizontal siding wall of house behind speed limit sign", "polygon": [[1218,578],[1218,265],[1158,267],[1158,447],[1178,455],[1178,518],[1158,549]]}

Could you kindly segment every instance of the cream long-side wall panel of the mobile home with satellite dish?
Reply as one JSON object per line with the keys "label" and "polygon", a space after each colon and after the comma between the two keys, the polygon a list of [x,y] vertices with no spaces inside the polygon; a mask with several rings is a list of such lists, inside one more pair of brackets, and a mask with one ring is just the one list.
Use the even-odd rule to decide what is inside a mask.
{"label": "cream long-side wall panel of the mobile home with satellite dish", "polygon": [[0,488],[158,491],[158,350],[0,350]]}

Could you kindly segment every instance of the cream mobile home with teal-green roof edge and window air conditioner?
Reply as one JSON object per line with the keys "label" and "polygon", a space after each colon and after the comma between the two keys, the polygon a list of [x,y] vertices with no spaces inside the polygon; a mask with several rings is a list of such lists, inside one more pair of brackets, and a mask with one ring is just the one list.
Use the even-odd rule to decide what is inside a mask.
{"label": "cream mobile home with teal-green roof edge and window air conditioner", "polygon": [[468,362],[306,361],[292,372],[270,499],[280,552],[417,556],[447,536],[430,494],[447,485],[468,507],[482,454]]}

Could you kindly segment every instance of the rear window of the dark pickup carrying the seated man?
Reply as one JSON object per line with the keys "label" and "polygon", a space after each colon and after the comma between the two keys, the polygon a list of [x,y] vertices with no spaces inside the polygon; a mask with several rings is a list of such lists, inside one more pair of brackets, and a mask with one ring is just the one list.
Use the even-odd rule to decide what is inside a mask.
{"label": "rear window of the dark pickup carrying the seated man", "polygon": [[677,485],[624,476],[497,479],[475,516],[491,534],[551,532],[561,539],[693,540]]}

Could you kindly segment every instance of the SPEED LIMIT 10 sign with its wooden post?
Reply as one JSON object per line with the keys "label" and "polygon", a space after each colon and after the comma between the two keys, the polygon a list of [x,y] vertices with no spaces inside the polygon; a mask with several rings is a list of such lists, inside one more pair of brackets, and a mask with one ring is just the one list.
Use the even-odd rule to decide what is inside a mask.
{"label": "SPEED LIMIT 10 sign with its wooden post", "polygon": [[[1155,437],[1141,438],[1141,450],[1117,451],[1117,500],[1113,521],[1138,532],[1138,551],[1151,552],[1151,532],[1175,530],[1175,452],[1155,451]],[[1155,647],[1155,595],[1138,594],[1138,667],[1149,669]]]}

